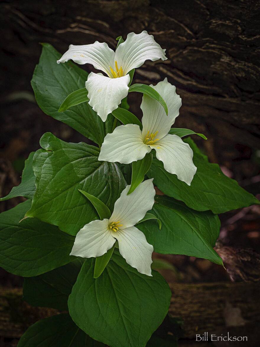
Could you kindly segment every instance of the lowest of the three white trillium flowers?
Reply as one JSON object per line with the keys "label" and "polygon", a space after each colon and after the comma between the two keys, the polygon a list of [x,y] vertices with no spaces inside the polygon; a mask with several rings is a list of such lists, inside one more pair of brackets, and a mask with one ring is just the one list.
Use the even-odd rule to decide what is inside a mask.
{"label": "lowest of the three white trillium flowers", "polygon": [[127,195],[129,188],[127,186],[116,200],[110,219],[93,220],[79,230],[70,255],[98,257],[118,240],[119,252],[126,262],[140,273],[152,276],[151,254],[154,247],[134,225],[153,207],[153,179],[142,182],[133,193]]}

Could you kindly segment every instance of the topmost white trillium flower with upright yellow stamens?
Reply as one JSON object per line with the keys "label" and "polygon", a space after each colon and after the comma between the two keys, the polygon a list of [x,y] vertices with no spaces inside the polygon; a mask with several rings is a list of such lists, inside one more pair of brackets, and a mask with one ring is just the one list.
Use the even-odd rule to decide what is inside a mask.
{"label": "topmost white trillium flower with upright yellow stamens", "polygon": [[146,60],[166,60],[165,49],[154,41],[147,31],[130,33],[125,42],[114,52],[107,43],[96,41],[93,44],[74,46],[57,60],[64,63],[72,59],[78,64],[92,64],[101,73],[90,73],[86,82],[89,105],[103,121],[107,115],[118,108],[121,100],[128,94],[129,72],[144,64]]}

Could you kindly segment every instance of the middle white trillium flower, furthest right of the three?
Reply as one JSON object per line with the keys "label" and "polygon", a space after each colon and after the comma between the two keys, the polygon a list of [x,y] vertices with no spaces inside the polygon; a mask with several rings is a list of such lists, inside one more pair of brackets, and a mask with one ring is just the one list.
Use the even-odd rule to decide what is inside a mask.
{"label": "middle white trillium flower, furthest right of the three", "polygon": [[190,185],[197,170],[192,162],[192,149],[179,136],[168,134],[179,116],[181,98],[167,78],[151,87],[165,100],[168,116],[159,102],[144,95],[141,103],[142,131],[136,124],[115,128],[112,134],[105,136],[98,160],[129,164],[155,149],[156,157],[163,162],[165,170]]}

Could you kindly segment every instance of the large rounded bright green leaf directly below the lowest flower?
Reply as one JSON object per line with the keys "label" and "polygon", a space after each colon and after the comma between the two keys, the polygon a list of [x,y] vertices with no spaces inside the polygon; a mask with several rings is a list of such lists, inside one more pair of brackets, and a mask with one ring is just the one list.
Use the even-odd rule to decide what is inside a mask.
{"label": "large rounded bright green leaf directly below the lowest flower", "polygon": [[155,271],[153,277],[139,273],[117,249],[96,279],[93,265],[94,259],[85,261],[72,288],[71,318],[89,336],[111,347],[145,346],[168,311],[168,284]]}

